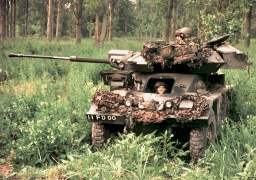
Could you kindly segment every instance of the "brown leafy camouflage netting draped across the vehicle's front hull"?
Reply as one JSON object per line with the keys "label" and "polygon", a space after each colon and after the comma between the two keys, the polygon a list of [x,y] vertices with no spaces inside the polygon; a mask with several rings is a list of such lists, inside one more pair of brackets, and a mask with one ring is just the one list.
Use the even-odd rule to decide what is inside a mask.
{"label": "brown leafy camouflage netting draped across the vehicle's front hull", "polygon": [[[193,119],[205,115],[209,105],[206,100],[197,94],[182,94],[172,99],[172,109],[157,110],[160,106],[157,101],[149,100],[143,102],[144,109],[138,107],[127,107],[124,105],[125,97],[105,90],[97,90],[92,101],[101,108],[102,112],[117,112],[126,117],[126,125],[131,129],[137,122],[143,124],[160,123],[170,115],[174,115],[177,122],[191,122]],[[182,100],[194,101],[194,109],[180,110]]]}

